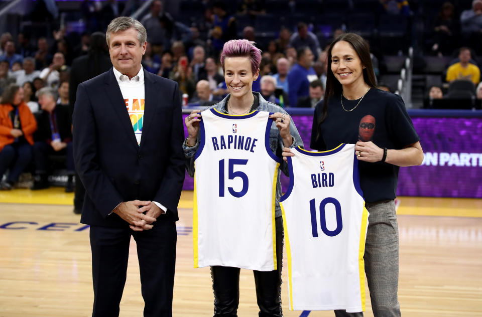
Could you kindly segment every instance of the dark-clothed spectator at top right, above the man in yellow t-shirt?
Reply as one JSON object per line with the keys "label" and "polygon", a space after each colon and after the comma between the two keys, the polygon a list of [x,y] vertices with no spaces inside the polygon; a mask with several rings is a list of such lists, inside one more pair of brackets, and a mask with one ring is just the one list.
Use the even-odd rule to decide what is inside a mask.
{"label": "dark-clothed spectator at top right, above the man in yellow t-shirt", "polygon": [[450,54],[455,49],[460,33],[460,21],[455,16],[453,5],[445,2],[433,22],[432,53]]}

